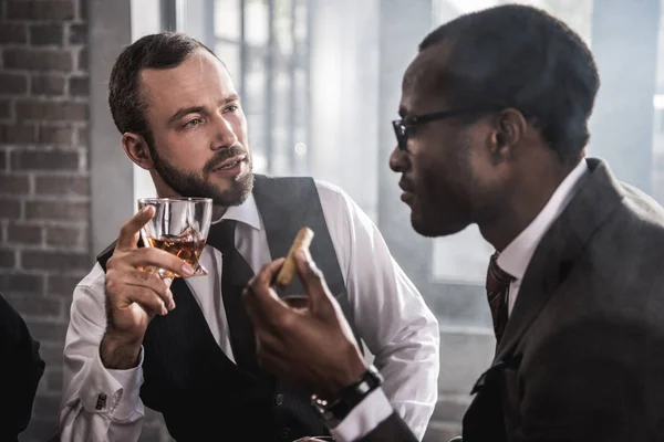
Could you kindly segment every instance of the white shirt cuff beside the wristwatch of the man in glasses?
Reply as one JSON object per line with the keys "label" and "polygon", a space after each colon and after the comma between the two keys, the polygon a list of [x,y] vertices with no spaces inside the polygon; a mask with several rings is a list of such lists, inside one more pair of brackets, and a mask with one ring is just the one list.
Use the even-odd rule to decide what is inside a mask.
{"label": "white shirt cuff beside the wristwatch of the man in glasses", "polygon": [[385,392],[377,388],[355,406],[339,425],[330,429],[330,432],[339,442],[352,442],[364,438],[393,412]]}

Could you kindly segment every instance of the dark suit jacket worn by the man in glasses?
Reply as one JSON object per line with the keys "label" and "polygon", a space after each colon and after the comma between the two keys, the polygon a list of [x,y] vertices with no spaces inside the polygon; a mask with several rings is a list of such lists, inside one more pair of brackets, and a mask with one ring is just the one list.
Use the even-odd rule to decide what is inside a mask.
{"label": "dark suit jacket worn by the man in glasses", "polygon": [[[587,161],[474,388],[464,442],[664,441],[664,210]],[[415,441],[397,421],[363,441]]]}

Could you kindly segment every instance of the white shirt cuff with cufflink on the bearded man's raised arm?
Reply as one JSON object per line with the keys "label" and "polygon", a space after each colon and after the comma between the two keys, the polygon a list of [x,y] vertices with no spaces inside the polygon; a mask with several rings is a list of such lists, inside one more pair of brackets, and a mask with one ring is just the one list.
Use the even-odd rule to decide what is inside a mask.
{"label": "white shirt cuff with cufflink on the bearded man's raised arm", "polygon": [[113,420],[123,421],[133,413],[144,414],[143,402],[139,399],[143,383],[143,346],[138,356],[138,365],[128,370],[111,370],[104,367],[102,358],[96,352],[85,386],[80,396],[86,411],[107,414]]}

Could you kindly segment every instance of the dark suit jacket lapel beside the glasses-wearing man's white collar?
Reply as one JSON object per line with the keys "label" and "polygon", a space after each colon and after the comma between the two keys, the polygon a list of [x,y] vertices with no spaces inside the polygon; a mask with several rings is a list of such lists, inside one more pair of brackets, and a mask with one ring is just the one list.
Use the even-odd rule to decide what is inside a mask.
{"label": "dark suit jacket lapel beside the glasses-wearing man's white collar", "polygon": [[587,242],[624,197],[621,185],[603,161],[589,158],[587,162],[589,173],[579,191],[551,224],[532,255],[494,364],[508,359],[570,273]]}

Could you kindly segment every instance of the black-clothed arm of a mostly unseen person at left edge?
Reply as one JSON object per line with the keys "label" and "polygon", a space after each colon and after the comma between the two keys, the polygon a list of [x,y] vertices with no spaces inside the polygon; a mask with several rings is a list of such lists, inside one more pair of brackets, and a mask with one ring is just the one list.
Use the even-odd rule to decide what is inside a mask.
{"label": "black-clothed arm of a mostly unseen person at left edge", "polygon": [[17,441],[28,427],[43,372],[39,343],[0,295],[0,441]]}

